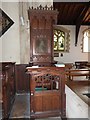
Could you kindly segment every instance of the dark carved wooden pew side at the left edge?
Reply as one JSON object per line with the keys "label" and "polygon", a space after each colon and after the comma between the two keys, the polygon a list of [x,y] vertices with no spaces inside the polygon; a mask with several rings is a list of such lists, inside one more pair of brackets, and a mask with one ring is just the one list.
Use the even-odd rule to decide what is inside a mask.
{"label": "dark carved wooden pew side at the left edge", "polygon": [[2,118],[8,120],[15,99],[15,63],[0,62],[2,82]]}

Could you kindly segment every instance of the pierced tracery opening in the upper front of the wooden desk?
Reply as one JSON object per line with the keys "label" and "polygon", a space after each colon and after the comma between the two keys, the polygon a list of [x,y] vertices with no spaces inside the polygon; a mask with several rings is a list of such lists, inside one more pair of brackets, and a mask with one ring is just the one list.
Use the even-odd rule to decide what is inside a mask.
{"label": "pierced tracery opening in the upper front of the wooden desk", "polygon": [[60,89],[60,76],[52,74],[43,74],[35,77],[35,91],[58,90]]}

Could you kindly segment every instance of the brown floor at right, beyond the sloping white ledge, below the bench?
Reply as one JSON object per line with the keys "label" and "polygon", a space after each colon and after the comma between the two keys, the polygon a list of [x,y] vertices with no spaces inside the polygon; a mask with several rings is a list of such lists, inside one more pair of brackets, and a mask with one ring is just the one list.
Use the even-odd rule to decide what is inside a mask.
{"label": "brown floor at right, beyond the sloping white ledge, below the bench", "polygon": [[85,103],[90,106],[90,98],[85,93],[90,93],[90,81],[67,81],[66,85],[74,91]]}

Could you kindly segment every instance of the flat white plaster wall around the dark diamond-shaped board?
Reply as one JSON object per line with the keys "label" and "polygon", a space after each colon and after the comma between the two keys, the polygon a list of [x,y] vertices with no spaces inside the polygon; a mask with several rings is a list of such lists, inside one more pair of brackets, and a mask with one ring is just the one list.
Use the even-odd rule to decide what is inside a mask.
{"label": "flat white plaster wall around the dark diamond-shaped board", "polygon": [[0,61],[20,63],[18,3],[2,2],[2,10],[14,21],[14,24],[0,38],[0,47],[2,48]]}

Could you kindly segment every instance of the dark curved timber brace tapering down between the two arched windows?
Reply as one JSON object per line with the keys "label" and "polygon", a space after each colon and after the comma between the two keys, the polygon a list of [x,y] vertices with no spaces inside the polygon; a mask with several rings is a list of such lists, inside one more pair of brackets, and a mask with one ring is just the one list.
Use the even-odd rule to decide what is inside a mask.
{"label": "dark curved timber brace tapering down between the two arched windows", "polygon": [[75,46],[77,46],[77,42],[78,42],[78,34],[79,34],[79,29],[80,26],[83,22],[83,19],[85,17],[85,14],[87,13],[88,9],[90,7],[90,1],[87,2],[87,5],[83,8],[83,11],[81,12],[80,16],[78,17],[77,21],[76,21],[76,39],[75,39]]}

